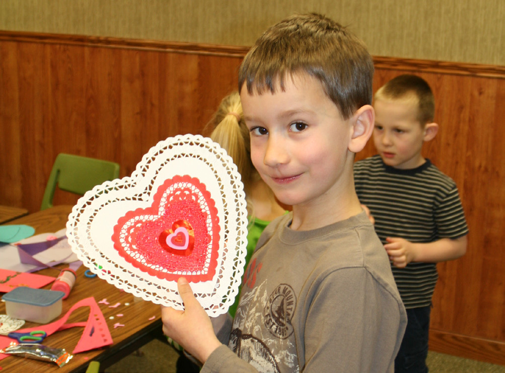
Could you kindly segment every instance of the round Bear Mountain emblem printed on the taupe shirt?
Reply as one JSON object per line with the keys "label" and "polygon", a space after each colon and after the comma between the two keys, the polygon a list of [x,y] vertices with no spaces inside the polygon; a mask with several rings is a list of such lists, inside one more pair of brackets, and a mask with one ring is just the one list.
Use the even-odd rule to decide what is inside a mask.
{"label": "round Bear Mountain emblem printed on the taupe shirt", "polygon": [[291,317],[296,296],[291,286],[280,284],[268,299],[265,306],[265,326],[274,336],[285,339],[293,333]]}

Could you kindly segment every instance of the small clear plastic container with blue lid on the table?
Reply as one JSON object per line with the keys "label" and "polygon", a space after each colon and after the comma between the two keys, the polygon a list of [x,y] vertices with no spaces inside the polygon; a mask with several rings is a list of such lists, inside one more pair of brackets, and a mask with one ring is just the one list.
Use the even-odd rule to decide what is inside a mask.
{"label": "small clear plastic container with blue lid on the table", "polygon": [[6,293],[5,300],[7,315],[13,318],[45,324],[62,312],[62,291],[32,289],[17,287]]}

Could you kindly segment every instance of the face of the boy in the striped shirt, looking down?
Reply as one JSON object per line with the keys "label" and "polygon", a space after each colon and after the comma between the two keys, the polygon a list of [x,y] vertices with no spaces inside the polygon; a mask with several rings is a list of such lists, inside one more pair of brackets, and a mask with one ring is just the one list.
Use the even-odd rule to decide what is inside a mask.
{"label": "face of the boy in the striped shirt, looking down", "polygon": [[410,170],[425,159],[421,148],[426,131],[416,118],[414,99],[376,99],[374,144],[384,163],[396,169]]}

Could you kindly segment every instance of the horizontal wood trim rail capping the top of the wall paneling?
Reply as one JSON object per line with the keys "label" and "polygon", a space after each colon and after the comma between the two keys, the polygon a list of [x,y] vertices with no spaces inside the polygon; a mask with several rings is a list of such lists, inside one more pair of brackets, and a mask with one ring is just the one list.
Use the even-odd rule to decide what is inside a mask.
{"label": "horizontal wood trim rail capping the top of the wall paneling", "polygon": [[[0,30],[0,40],[167,51],[185,54],[200,54],[238,58],[243,58],[249,50],[248,46],[198,44],[175,41],[156,41],[2,30]],[[499,65],[466,64],[458,62],[417,60],[381,56],[374,57],[374,65],[376,68],[387,70],[431,72],[505,79],[505,66]]]}

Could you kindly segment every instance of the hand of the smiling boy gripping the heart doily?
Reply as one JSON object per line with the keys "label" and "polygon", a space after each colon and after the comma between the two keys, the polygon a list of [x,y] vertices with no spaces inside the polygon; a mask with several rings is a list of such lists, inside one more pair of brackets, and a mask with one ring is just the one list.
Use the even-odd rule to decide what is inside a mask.
{"label": "hand of the smiling boy gripping the heart doily", "polygon": [[214,334],[211,319],[194,297],[184,277],[177,281],[177,289],[185,309],[180,311],[161,306],[163,333],[199,361],[205,362],[209,355],[221,346],[221,342]]}

